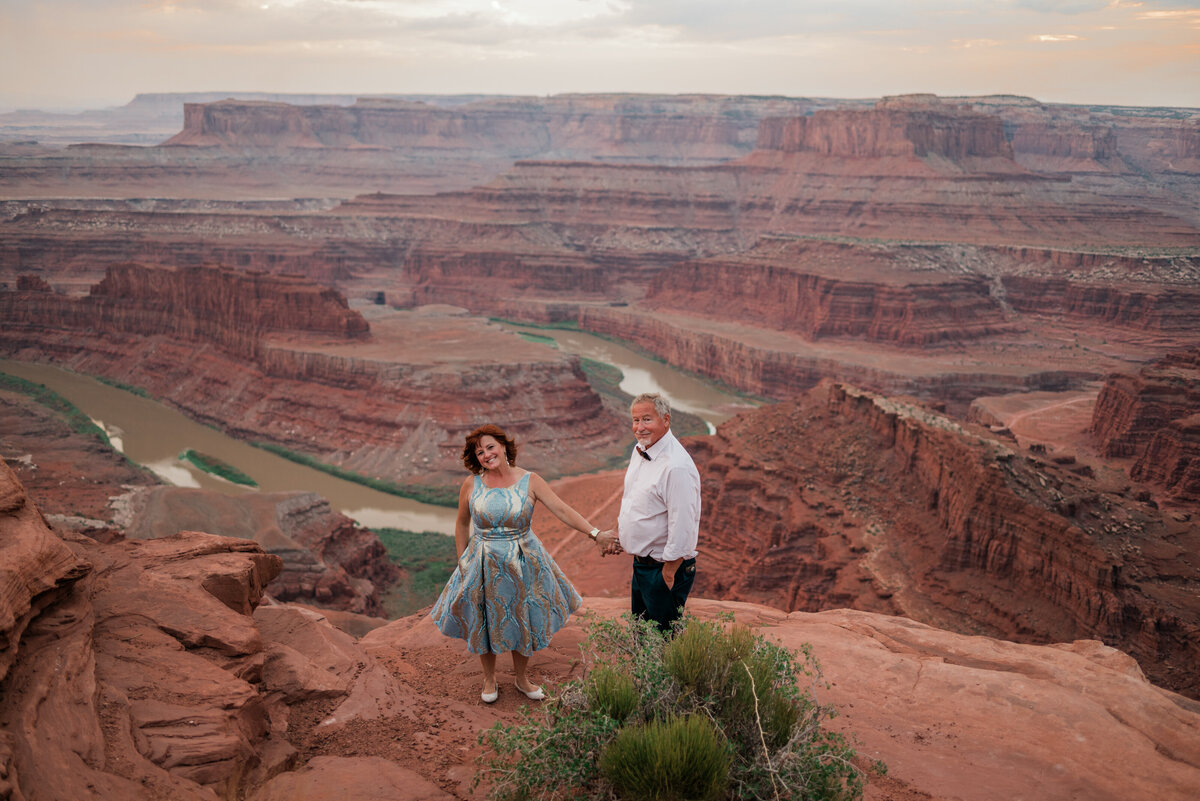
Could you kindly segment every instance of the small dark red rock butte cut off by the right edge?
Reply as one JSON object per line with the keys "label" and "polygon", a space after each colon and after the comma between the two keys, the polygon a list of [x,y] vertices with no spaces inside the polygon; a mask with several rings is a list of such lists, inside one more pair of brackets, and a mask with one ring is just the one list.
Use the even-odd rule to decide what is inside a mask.
{"label": "small dark red rock butte cut off by the right edge", "polygon": [[[1159,430],[1198,411],[1200,350],[1176,351],[1147,365],[1136,375],[1109,375],[1096,399],[1092,432],[1105,456],[1141,457]],[[1163,447],[1169,447],[1166,441]],[[1145,469],[1150,470],[1148,464]],[[1180,468],[1162,464],[1157,469],[1166,475]]]}

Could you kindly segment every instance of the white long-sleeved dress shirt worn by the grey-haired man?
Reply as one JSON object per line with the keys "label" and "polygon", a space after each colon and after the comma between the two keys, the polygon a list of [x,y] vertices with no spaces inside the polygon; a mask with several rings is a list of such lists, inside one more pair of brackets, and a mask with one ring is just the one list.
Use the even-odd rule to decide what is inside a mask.
{"label": "white long-sleeved dress shirt worn by the grey-haired man", "polygon": [[670,429],[647,460],[635,447],[625,470],[617,535],[625,553],[659,561],[691,559],[700,536],[700,472]]}

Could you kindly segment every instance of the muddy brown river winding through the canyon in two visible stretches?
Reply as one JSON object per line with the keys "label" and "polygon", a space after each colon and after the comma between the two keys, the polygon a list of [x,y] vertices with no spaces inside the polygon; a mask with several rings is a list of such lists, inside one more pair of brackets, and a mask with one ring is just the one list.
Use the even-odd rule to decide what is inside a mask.
{"label": "muddy brown river winding through the canyon in two visible stretches", "polygon": [[[520,330],[550,337],[568,353],[613,365],[625,377],[620,384],[623,391],[630,395],[662,392],[676,408],[703,417],[710,429],[728,417],[733,406],[744,406],[744,401],[736,396],[606,339],[575,331]],[[182,412],[157,401],[48,365],[0,359],[0,372],[58,392],[103,428],[114,447],[176,487],[199,487],[229,495],[314,492],[328,498],[340,512],[368,528],[454,534],[452,508],[382,493],[289,462],[188,420]],[[179,454],[187,448],[228,462],[257,481],[258,488],[234,484],[180,460]]]}

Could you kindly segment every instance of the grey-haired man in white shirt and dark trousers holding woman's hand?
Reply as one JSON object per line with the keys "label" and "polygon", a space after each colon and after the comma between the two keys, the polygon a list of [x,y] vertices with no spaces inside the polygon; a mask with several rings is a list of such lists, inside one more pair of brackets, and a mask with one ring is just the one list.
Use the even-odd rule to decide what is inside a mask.
{"label": "grey-haired man in white shirt and dark trousers holding woman's hand", "polygon": [[[700,472],[671,433],[671,406],[658,393],[630,406],[637,445],[625,470],[617,536],[634,556],[630,598],[634,614],[664,632],[679,619],[696,578],[700,535]],[[611,531],[599,535],[602,550],[616,550]]]}

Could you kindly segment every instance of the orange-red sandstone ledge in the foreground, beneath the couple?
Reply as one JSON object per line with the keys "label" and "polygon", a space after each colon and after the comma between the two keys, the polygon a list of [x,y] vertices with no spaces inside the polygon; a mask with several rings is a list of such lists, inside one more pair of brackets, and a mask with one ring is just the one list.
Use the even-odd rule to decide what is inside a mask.
{"label": "orange-red sandstone ledge in the foreground, beneath the couple", "polygon": [[[4,562],[0,597],[29,586],[38,542],[90,572],[35,588],[23,630],[0,621],[16,645],[0,676],[0,787],[14,799],[474,799],[479,733],[523,718],[506,676],[497,704],[479,703],[478,661],[427,615],[355,640],[265,598],[278,561],[254,543],[199,532],[62,543],[20,495],[0,475],[0,541],[6,556],[20,554]],[[611,618],[628,601],[587,608]],[[815,692],[841,712],[834,725],[888,765],[870,779],[878,797],[998,801],[1037,788],[1183,801],[1200,783],[1195,705],[1099,643],[1018,645],[901,618],[702,597],[689,608],[811,649],[828,682]],[[580,621],[533,660],[552,692],[580,674]]]}

